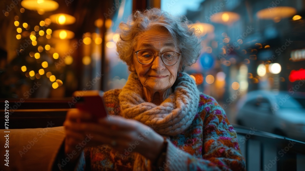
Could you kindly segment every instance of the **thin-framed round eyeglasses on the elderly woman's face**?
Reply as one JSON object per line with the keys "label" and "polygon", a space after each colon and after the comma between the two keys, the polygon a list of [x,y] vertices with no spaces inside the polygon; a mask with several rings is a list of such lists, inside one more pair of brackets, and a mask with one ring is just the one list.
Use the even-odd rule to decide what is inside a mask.
{"label": "thin-framed round eyeglasses on the elderly woman's face", "polygon": [[179,56],[181,55],[181,53],[174,51],[166,51],[163,53],[152,53],[149,50],[138,50],[135,51],[135,54],[137,54],[137,59],[140,64],[143,65],[151,64],[156,59],[156,56],[159,55],[161,57],[163,64],[167,66],[172,66],[176,64],[179,59]]}

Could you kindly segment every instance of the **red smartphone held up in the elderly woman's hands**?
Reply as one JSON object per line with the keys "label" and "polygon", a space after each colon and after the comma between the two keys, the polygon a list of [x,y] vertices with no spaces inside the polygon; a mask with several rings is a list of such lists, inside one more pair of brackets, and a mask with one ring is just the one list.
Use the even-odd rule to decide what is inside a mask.
{"label": "red smartphone held up in the elderly woman's hands", "polygon": [[103,101],[103,91],[87,90],[75,91],[73,97],[77,100],[75,107],[81,111],[87,111],[93,115],[93,120],[104,118],[108,115]]}

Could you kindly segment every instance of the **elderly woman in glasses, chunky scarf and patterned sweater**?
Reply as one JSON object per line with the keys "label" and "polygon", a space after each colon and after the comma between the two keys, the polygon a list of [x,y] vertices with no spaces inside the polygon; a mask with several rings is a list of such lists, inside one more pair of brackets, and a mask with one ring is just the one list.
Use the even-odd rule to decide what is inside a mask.
{"label": "elderly woman in glasses, chunky scarf and patterned sweater", "polygon": [[53,169],[245,170],[224,110],[182,72],[201,48],[188,20],[154,8],[136,11],[118,31],[131,74],[123,89],[104,93],[111,117],[90,122],[90,113],[70,110]]}

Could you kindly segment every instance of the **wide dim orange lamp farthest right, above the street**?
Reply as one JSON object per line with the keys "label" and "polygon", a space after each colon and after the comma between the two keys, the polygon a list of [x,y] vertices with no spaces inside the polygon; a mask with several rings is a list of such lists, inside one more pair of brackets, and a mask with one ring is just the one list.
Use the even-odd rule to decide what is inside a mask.
{"label": "wide dim orange lamp farthest right, above the street", "polygon": [[260,19],[268,19],[278,21],[281,18],[287,18],[296,14],[296,9],[289,6],[277,6],[272,8],[270,11],[269,8],[261,9],[256,13],[256,16]]}

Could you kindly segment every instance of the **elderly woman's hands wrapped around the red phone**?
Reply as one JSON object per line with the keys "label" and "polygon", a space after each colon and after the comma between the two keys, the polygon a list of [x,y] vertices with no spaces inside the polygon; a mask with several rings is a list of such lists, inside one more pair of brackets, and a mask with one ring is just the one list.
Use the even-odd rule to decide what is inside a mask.
{"label": "elderly woman's hands wrapped around the red phone", "polygon": [[163,146],[163,137],[141,122],[119,116],[109,116],[98,122],[91,115],[77,109],[70,110],[64,123],[66,128],[65,152],[76,150],[77,144],[88,136],[87,144],[109,144],[125,156],[138,152],[154,162]]}

